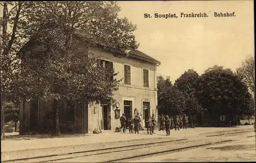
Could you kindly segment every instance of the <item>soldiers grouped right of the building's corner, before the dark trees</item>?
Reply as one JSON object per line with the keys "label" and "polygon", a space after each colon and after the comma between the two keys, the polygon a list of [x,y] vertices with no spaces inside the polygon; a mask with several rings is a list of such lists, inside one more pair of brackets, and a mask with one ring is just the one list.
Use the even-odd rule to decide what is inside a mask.
{"label": "soldiers grouped right of the building's corner, before the dark trees", "polygon": [[161,115],[160,117],[160,128],[159,130],[166,131],[166,135],[170,135],[170,129],[180,130],[180,129],[187,129],[188,128],[188,116],[184,114],[183,116],[168,116],[165,117]]}

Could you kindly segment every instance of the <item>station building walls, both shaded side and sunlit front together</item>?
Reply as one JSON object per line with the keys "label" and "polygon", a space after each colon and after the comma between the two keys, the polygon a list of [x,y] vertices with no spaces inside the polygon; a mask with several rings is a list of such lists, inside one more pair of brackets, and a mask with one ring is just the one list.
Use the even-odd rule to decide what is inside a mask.
{"label": "station building walls, both shaded side and sunlit front together", "polygon": [[[123,113],[123,100],[132,101],[132,112],[134,116],[134,110],[137,108],[141,115],[142,125],[144,126],[144,120],[142,119],[142,104],[144,102],[150,102],[150,114],[154,112],[157,120],[158,113],[156,111],[157,105],[157,76],[156,76],[156,64],[145,62],[142,60],[133,59],[130,57],[122,56],[115,57],[112,53],[106,52],[99,48],[91,48],[94,53],[94,57],[99,57],[102,60],[113,62],[113,66],[116,72],[119,72],[117,79],[124,77],[124,64],[131,66],[131,85],[125,85],[124,80],[119,84],[119,90],[114,93],[114,98],[120,104],[120,116]],[[149,87],[143,87],[143,69],[148,69]],[[23,120],[23,102],[21,103],[20,112],[20,127],[24,125],[24,132],[30,131],[30,103],[25,102],[25,118]],[[38,101],[38,131],[42,133],[50,133],[52,127],[52,103]],[[115,119],[115,110],[111,106],[111,129],[114,130],[117,126],[120,126],[120,120]],[[67,122],[67,103],[62,101],[59,106],[59,122],[61,133],[90,133],[95,128],[101,127],[103,120],[102,106],[100,103],[92,102],[88,104],[88,108],[84,108],[78,104],[75,104],[75,120],[73,122]],[[88,111],[88,112],[87,112]],[[83,115],[83,116],[82,116]],[[83,124],[83,125],[82,125]],[[102,129],[102,128],[101,128]]]}

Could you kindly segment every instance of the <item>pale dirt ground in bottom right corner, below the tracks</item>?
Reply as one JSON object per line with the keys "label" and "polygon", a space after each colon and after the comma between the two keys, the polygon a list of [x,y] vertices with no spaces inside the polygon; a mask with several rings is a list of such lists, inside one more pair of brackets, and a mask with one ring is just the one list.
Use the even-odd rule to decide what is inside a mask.
{"label": "pale dirt ground in bottom right corner, below the tracks", "polygon": [[[250,135],[253,135],[253,133],[250,133]],[[247,136],[249,136],[249,133]],[[240,141],[160,155],[137,160],[136,162],[256,161],[255,153],[255,137],[243,137]]]}

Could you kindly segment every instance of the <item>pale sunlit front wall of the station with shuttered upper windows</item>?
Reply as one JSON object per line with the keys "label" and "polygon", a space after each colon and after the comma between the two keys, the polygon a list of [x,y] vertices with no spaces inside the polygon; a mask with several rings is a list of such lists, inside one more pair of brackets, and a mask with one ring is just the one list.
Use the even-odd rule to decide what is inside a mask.
{"label": "pale sunlit front wall of the station with shuttered upper windows", "polygon": [[[120,116],[124,112],[123,100],[132,101],[132,111],[133,117],[134,110],[137,108],[138,112],[141,115],[142,120],[142,108],[143,108],[143,101],[150,102],[150,115],[154,112],[155,117],[157,119],[157,75],[156,75],[156,64],[140,61],[134,58],[129,58],[126,56],[115,57],[112,53],[101,50],[99,48],[91,48],[90,52],[93,53],[94,57],[99,57],[105,61],[113,62],[113,67],[116,72],[119,72],[115,77],[117,79],[123,79],[124,77],[124,65],[131,66],[131,85],[125,85],[124,79],[119,84],[119,90],[114,93],[114,98],[116,102],[120,104]],[[143,69],[148,69],[148,80],[149,80],[149,87],[143,87]],[[95,119],[102,120],[102,108],[100,104],[92,104],[91,106],[91,117],[89,117],[89,130],[93,130],[97,127],[97,122]],[[93,113],[93,108],[95,108],[97,113]],[[115,110],[111,106],[111,129],[114,130],[117,126],[120,126],[120,120],[115,119]],[[90,112],[90,111],[89,111]],[[94,120],[93,120],[94,119]],[[142,125],[144,126],[144,120],[142,120]]]}

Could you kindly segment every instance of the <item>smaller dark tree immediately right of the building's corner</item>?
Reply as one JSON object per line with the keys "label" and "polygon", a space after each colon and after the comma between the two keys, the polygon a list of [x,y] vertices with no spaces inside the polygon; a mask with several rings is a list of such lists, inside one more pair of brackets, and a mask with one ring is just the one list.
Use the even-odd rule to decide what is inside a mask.
{"label": "smaller dark tree immediately right of the building's corner", "polygon": [[185,110],[185,97],[183,92],[170,82],[170,77],[157,77],[158,103],[161,107],[159,113],[180,115]]}

